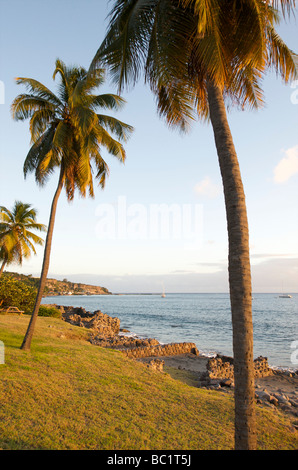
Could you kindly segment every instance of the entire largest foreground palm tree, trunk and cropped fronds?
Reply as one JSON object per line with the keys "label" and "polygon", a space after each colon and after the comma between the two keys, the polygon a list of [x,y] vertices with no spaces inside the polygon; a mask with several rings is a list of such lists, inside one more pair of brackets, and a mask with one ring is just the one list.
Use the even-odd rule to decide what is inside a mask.
{"label": "entire largest foreground palm tree, trunk and cropped fronds", "polygon": [[[210,119],[224,188],[235,376],[235,447],[256,447],[249,231],[226,104],[257,108],[274,67],[287,82],[294,55],[277,34],[275,1],[116,0],[92,68],[110,66],[119,90],[141,73],[170,126]],[[295,2],[283,0],[285,15]]]}

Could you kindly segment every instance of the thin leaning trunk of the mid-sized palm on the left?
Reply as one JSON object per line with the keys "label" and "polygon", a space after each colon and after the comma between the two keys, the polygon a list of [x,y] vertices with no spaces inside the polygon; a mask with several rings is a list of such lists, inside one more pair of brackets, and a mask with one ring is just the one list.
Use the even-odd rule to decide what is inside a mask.
{"label": "thin leaning trunk of the mid-sized palm on the left", "polygon": [[31,315],[31,319],[30,319],[30,322],[29,322],[29,325],[28,325],[28,328],[27,328],[27,331],[26,331],[26,334],[25,334],[25,337],[21,346],[21,349],[23,349],[24,351],[30,350],[35,323],[36,323],[36,319],[38,316],[38,311],[39,311],[40,303],[42,300],[44,288],[46,285],[46,280],[47,280],[47,275],[48,275],[49,265],[50,265],[50,254],[51,254],[56,209],[57,209],[58,199],[59,199],[62,187],[63,187],[63,176],[64,176],[64,171],[63,171],[63,166],[61,164],[59,183],[58,183],[58,186],[57,186],[54,198],[53,198],[52,207],[51,207],[51,214],[50,214],[50,220],[49,220],[49,225],[48,225],[45,250],[44,250],[44,255],[43,255],[43,264],[42,264],[42,270],[41,270],[41,275],[39,279],[39,285],[38,285],[38,291],[37,291],[37,296],[35,300],[34,310]]}

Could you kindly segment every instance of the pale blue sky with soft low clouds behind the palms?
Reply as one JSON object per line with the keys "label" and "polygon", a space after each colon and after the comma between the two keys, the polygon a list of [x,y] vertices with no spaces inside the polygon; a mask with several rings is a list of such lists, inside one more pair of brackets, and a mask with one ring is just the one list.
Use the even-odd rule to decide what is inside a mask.
{"label": "pale blue sky with soft low clouds behind the palms", "polygon": [[[47,224],[58,175],[46,186],[23,176],[29,123],[12,120],[24,92],[15,77],[57,91],[57,58],[89,67],[108,25],[106,0],[0,0],[0,205],[32,204]],[[281,37],[298,51],[297,20]],[[254,292],[298,292],[298,81],[274,72],[263,81],[265,106],[229,110],[245,189]],[[107,80],[99,93],[116,93]],[[134,127],[126,162],[104,154],[110,176],[95,198],[62,193],[49,277],[107,287],[112,292],[228,292],[228,238],[221,176],[211,126],[187,134],[169,129],[142,80],[124,92],[115,117]],[[43,248],[8,271],[39,276]]]}

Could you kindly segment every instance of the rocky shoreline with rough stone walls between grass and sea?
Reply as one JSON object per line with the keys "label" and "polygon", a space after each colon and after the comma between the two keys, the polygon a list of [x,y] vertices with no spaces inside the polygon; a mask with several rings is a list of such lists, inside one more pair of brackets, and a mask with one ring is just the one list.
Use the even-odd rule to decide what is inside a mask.
{"label": "rocky shoreline with rough stone walls between grass and sea", "polygon": [[[89,340],[94,345],[117,349],[127,357],[143,362],[146,367],[161,372],[164,368],[174,368],[191,373],[196,378],[197,387],[233,393],[234,366],[231,357],[202,356],[194,343],[164,345],[155,338],[135,337],[120,328],[119,318],[110,317],[100,310],[87,312],[81,307],[51,306],[61,311],[64,321],[90,329]],[[272,369],[266,357],[256,358],[254,367],[256,402],[291,414],[297,418],[293,426],[298,429],[298,370]]]}

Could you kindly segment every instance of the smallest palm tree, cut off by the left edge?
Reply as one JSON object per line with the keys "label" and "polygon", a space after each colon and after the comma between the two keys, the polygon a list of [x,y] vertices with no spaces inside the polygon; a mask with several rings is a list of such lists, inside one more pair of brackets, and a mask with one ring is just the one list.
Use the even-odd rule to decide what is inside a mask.
{"label": "smallest palm tree, cut off by the left edge", "polygon": [[15,201],[12,210],[0,206],[0,277],[6,265],[22,264],[32,252],[36,254],[35,244],[43,244],[43,239],[34,231],[46,231],[46,226],[37,223],[36,216],[37,211],[21,201]]}

